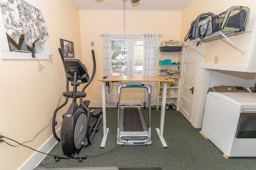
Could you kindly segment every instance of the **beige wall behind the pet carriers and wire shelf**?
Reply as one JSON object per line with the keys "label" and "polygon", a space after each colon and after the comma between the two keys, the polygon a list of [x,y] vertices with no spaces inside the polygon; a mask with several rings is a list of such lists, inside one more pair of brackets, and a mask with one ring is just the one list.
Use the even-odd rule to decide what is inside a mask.
{"label": "beige wall behind the pet carriers and wire shelf", "polygon": [[[256,1],[255,0],[195,0],[186,10],[182,12],[182,26],[180,39],[184,42],[184,37],[190,29],[190,25],[196,17],[205,12],[212,12],[214,14],[220,14],[231,6],[248,6],[250,8],[250,18],[247,27],[247,31],[252,31],[255,15],[256,15]],[[203,8],[198,8],[203,7]],[[214,64],[215,56],[219,56],[218,64],[248,64],[248,50],[250,46],[252,33],[246,33],[243,35],[229,37],[240,49],[246,52],[246,56],[243,57],[242,53],[235,49],[229,43],[226,43],[223,39],[219,41],[211,41],[205,43],[204,55],[202,63]],[[189,40],[188,40],[189,41]]]}

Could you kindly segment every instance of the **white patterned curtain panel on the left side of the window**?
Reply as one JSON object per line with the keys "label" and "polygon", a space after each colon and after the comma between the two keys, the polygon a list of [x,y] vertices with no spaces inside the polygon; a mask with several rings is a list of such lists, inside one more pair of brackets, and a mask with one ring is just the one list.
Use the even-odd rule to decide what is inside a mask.
{"label": "white patterned curtain panel on the left side of the window", "polygon": [[[111,64],[111,39],[108,33],[102,34],[103,39],[103,53],[104,53],[104,71],[103,74],[106,76],[112,75],[112,64]],[[114,103],[114,88],[113,84],[110,87],[105,86],[106,102]]]}

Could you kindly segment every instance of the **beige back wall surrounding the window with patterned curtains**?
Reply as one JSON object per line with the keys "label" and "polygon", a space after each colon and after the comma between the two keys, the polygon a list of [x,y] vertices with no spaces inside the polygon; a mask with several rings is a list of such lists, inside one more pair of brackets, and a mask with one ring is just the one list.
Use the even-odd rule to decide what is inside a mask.
{"label": "beige back wall surrounding the window with patterned curtains", "polygon": [[[90,74],[92,72],[91,49],[96,55],[96,75],[92,84],[88,86],[87,98],[94,102],[102,101],[101,84],[96,79],[103,75],[103,43],[102,33],[124,34],[123,11],[80,11],[80,26],[83,61]],[[180,12],[125,12],[125,34],[155,33],[162,34],[159,45],[166,40],[179,40]],[[90,40],[95,40],[95,47],[90,47]],[[157,49],[158,50],[158,49]],[[116,89],[114,89],[116,92]],[[130,93],[130,92],[128,92]],[[141,101],[141,90],[126,95],[126,101]]]}

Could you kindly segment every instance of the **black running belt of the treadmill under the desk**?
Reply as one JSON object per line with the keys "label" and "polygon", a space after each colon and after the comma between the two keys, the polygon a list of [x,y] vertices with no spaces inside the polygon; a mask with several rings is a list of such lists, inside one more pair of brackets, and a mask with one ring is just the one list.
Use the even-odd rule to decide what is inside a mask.
{"label": "black running belt of the treadmill under the desk", "polygon": [[144,131],[137,108],[124,108],[124,131]]}

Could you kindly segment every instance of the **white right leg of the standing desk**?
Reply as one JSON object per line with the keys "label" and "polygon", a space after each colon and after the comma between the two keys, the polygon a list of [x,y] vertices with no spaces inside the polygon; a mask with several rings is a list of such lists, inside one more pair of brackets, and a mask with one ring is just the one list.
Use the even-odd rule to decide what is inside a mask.
{"label": "white right leg of the standing desk", "polygon": [[162,94],[162,109],[161,109],[161,119],[160,119],[160,129],[156,128],[158,136],[162,142],[164,148],[168,148],[166,142],[164,141],[164,114],[165,114],[165,104],[166,104],[166,92],[167,92],[167,82],[163,82],[163,94]]}

